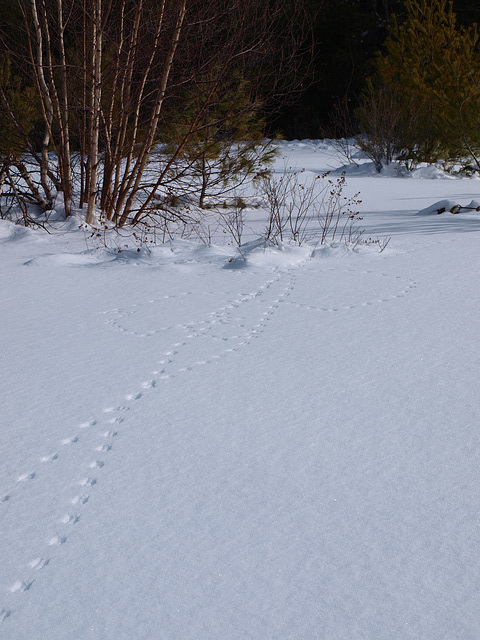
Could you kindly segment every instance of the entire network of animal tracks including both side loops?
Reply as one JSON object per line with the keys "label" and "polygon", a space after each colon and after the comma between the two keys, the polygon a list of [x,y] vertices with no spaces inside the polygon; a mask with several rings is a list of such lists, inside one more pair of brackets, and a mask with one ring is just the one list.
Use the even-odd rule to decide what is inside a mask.
{"label": "entire network of animal tracks including both side loops", "polygon": [[[105,474],[108,474],[109,461],[115,455],[115,442],[120,433],[125,432],[128,437],[128,427],[133,409],[145,394],[157,393],[165,380],[177,376],[184,376],[198,367],[208,367],[222,358],[232,357],[235,352],[248,348],[268,330],[272,318],[279,312],[282,305],[288,304],[305,311],[338,312],[371,306],[395,300],[415,289],[417,283],[406,280],[401,276],[390,275],[377,271],[355,271],[342,269],[341,273],[347,283],[352,278],[356,282],[368,281],[384,282],[385,286],[379,296],[360,299],[358,295],[352,304],[345,304],[345,292],[328,291],[329,276],[334,272],[337,283],[339,271],[331,268],[317,269],[319,283],[325,293],[325,300],[320,298],[317,304],[306,303],[302,296],[295,295],[297,281],[301,280],[305,263],[293,268],[274,273],[269,279],[253,291],[233,296],[225,304],[213,308],[195,320],[186,320],[180,324],[161,324],[155,326],[156,310],[165,309],[166,305],[178,304],[190,296],[195,298],[193,291],[184,291],[175,295],[162,296],[158,299],[148,299],[143,303],[131,305],[126,309],[110,309],[100,316],[113,330],[119,331],[139,339],[152,339],[152,346],[159,348],[158,367],[146,372],[139,381],[136,389],[126,393],[123,400],[106,402],[97,415],[68,427],[64,438],[57,446],[46,443],[45,450],[39,452],[38,465],[34,468],[19,470],[13,485],[0,496],[2,508],[15,509],[17,500],[22,499],[28,486],[34,486],[35,481],[42,476],[44,468],[58,464],[65,451],[74,451],[74,466],[71,473],[76,476],[74,486],[67,503],[61,510],[63,515],[55,524],[54,535],[38,534],[38,544],[31,549],[31,558],[27,566],[18,567],[18,578],[7,586],[4,606],[0,607],[0,620],[6,621],[12,617],[19,606],[20,594],[35,587],[38,572],[53,566],[57,550],[67,543],[84,518],[88,518],[88,503],[98,491],[102,490]],[[392,286],[393,280],[393,286]],[[212,292],[214,293],[214,292]],[[208,297],[208,292],[200,294]],[[325,302],[326,301],[326,302]],[[145,324],[150,327],[140,327]],[[142,319],[142,323],[139,319]],[[161,346],[160,346],[161,345]],[[132,411],[132,413],[130,413]],[[88,437],[85,434],[88,433]],[[78,452],[78,453],[77,453]],[[57,482],[61,482],[57,478]]]}

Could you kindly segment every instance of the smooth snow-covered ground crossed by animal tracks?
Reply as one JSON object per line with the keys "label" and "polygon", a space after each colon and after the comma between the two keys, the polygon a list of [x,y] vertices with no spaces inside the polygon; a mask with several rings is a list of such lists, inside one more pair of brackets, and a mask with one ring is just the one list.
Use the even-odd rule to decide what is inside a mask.
{"label": "smooth snow-covered ground crossed by animal tracks", "polygon": [[480,182],[347,189],[382,253],[0,221],[2,640],[478,640]]}

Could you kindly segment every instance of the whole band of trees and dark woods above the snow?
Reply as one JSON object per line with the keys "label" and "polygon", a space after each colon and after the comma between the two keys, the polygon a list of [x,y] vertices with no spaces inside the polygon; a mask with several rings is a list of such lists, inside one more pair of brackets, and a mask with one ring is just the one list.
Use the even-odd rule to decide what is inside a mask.
{"label": "whole band of trees and dark woods above the snow", "polygon": [[478,21],[480,0],[3,0],[0,194],[137,224],[261,176],[273,134],[480,173]]}

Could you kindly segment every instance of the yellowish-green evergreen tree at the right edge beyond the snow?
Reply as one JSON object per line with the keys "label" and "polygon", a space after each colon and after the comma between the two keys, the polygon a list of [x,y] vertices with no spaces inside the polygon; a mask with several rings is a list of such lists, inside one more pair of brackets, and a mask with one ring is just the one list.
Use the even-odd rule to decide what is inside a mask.
{"label": "yellowish-green evergreen tree at the right edge beyond the snow", "polygon": [[374,93],[381,88],[396,96],[403,132],[397,152],[409,160],[456,160],[469,153],[475,158],[480,147],[476,25],[457,26],[448,0],[406,0],[405,5],[405,21],[394,20],[385,53],[377,56],[364,109],[372,87]]}

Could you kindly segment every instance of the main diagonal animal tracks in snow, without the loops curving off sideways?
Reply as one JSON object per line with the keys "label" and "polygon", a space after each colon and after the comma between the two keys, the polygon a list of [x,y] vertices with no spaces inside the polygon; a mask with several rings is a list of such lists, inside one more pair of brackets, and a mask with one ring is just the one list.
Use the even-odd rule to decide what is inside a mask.
{"label": "main diagonal animal tracks in snow, without the loops curving off sideways", "polygon": [[[253,327],[251,326],[249,328],[246,328],[243,324],[238,324],[230,317],[230,313],[232,312],[232,310],[238,309],[249,301],[261,297],[268,289],[272,287],[273,284],[278,282],[282,277],[284,277],[284,273],[280,273],[279,275],[277,275],[277,277],[268,280],[254,293],[236,298],[230,303],[227,303],[226,305],[209,313],[204,320],[182,325],[182,327],[187,332],[185,341],[173,343],[171,347],[163,353],[162,359],[159,360],[161,369],[152,371],[152,375],[156,376],[155,378],[143,382],[141,385],[141,390],[135,393],[128,394],[125,397],[125,404],[105,408],[103,410],[104,417],[102,419],[92,419],[79,424],[77,427],[78,432],[74,433],[74,435],[72,436],[62,439],[59,442],[59,445],[61,446],[59,447],[58,451],[54,451],[53,453],[49,453],[40,458],[39,462],[42,463],[42,465],[55,463],[55,461],[58,460],[61,456],[62,447],[75,445],[76,443],[81,441],[82,430],[100,427],[98,433],[99,438],[94,447],[93,455],[91,455],[92,460],[87,465],[90,473],[84,474],[77,483],[78,491],[71,498],[69,508],[66,510],[67,512],[59,521],[59,528],[61,529],[61,532],[46,540],[46,553],[44,555],[33,558],[28,563],[28,573],[30,574],[30,576],[28,578],[15,581],[14,584],[10,585],[7,588],[8,593],[15,594],[29,591],[29,589],[32,588],[32,585],[35,582],[35,578],[31,577],[32,572],[40,571],[51,563],[55,549],[61,547],[68,540],[68,531],[65,533],[67,528],[73,527],[78,522],[80,522],[82,507],[88,503],[90,499],[90,491],[96,487],[100,480],[100,476],[98,474],[106,465],[108,453],[112,450],[115,437],[119,433],[119,427],[125,419],[124,412],[130,409],[130,405],[135,401],[140,400],[145,391],[149,389],[155,389],[155,387],[157,387],[161,381],[171,379],[177,374],[183,374],[185,372],[191,371],[194,367],[207,365],[212,363],[214,360],[224,358],[228,356],[229,353],[238,351],[240,347],[248,345],[253,339],[258,338],[260,333],[265,329],[268,321],[271,319],[280,303],[283,302],[293,290],[294,276],[291,276],[289,278],[289,281],[288,283],[286,283],[286,286],[284,287],[282,293],[280,293],[273,301],[270,301],[270,303],[267,302],[266,310],[261,312],[259,320]],[[234,335],[230,335],[228,337],[218,337],[211,332],[209,333],[209,330],[213,329],[217,324],[220,324],[222,326],[229,325],[230,328],[234,329]],[[180,349],[186,347],[192,339],[205,335],[208,335],[214,343],[216,343],[217,341],[221,342],[222,348],[217,349],[217,352],[207,360],[200,360],[198,362],[193,362],[188,366],[175,368],[175,356],[179,353]],[[228,346],[228,344],[225,344],[225,342],[228,343],[232,340],[235,341],[235,346],[230,347]],[[40,471],[38,470],[31,470],[22,473],[20,476],[18,476],[16,484],[21,485],[34,481],[39,473]],[[12,489],[10,492],[1,495],[0,503],[9,503],[10,501],[13,502],[15,494],[15,489]],[[0,621],[4,621],[10,618],[12,613],[13,608],[0,607]]]}

